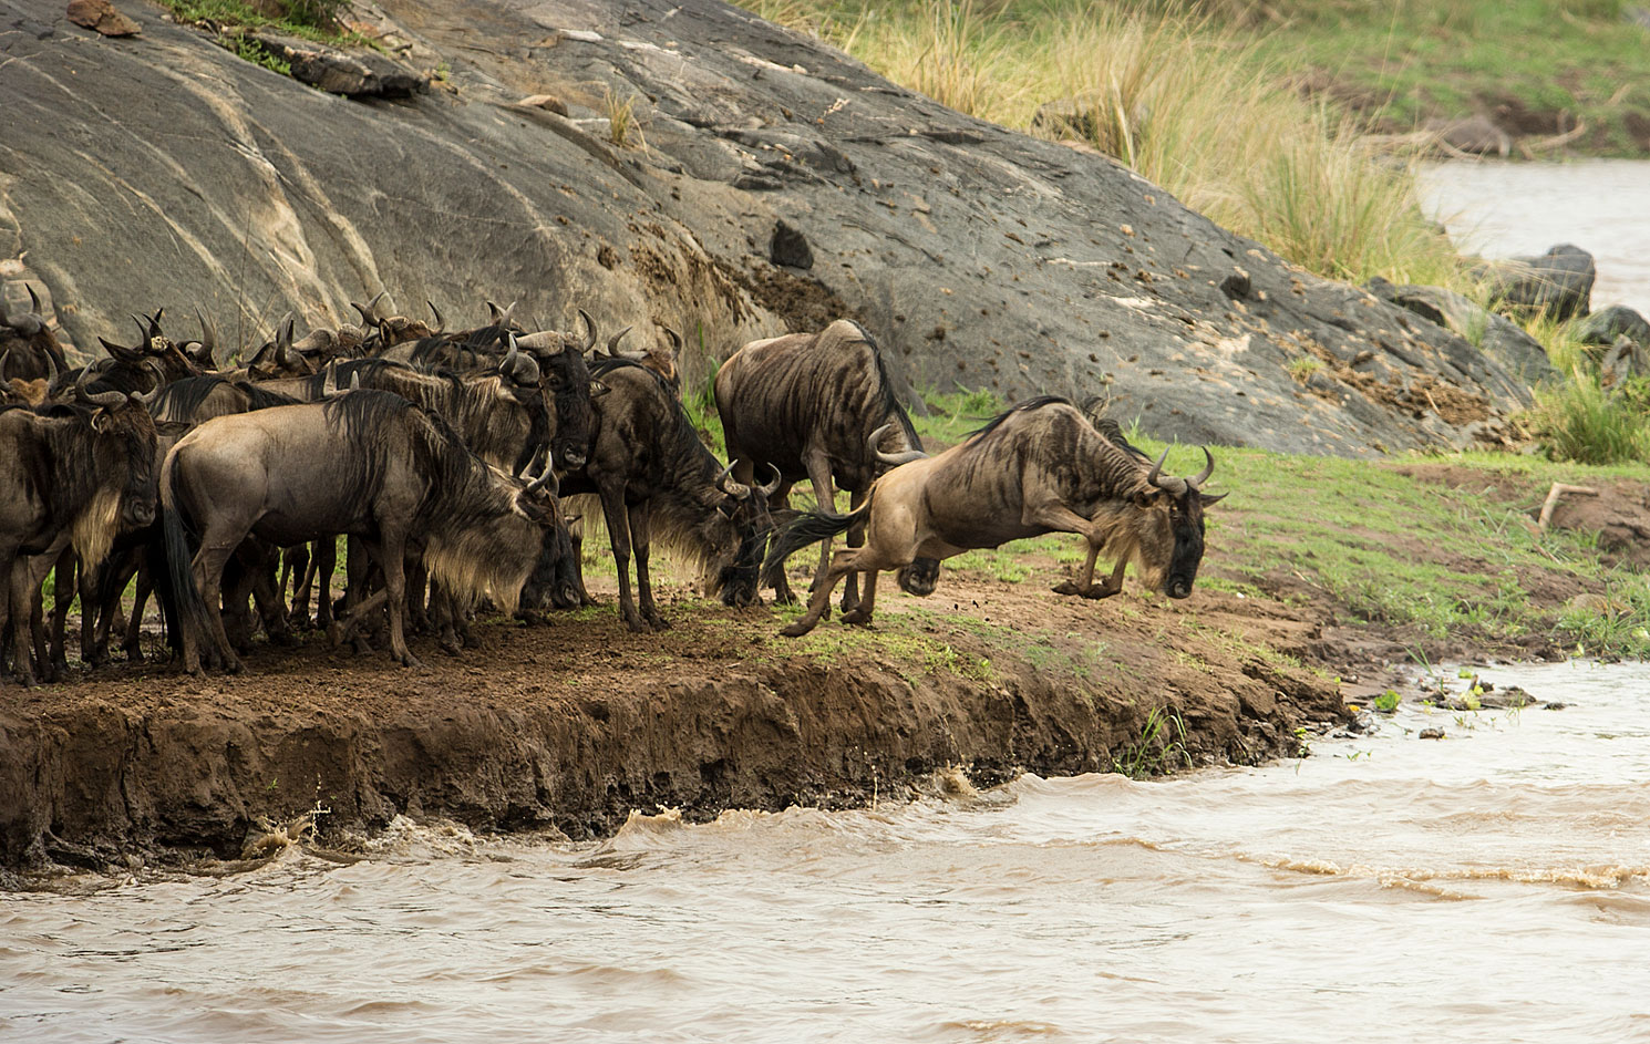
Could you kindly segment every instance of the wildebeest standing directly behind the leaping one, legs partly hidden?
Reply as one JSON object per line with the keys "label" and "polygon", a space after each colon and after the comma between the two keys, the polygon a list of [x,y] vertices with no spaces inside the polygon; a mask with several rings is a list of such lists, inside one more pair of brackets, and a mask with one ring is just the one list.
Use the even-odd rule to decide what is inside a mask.
{"label": "wildebeest standing directly behind the leaping one, legs partly hidden", "polygon": [[[751,341],[733,353],[716,371],[716,412],[728,459],[739,462],[734,478],[751,482],[766,467],[779,472],[776,510],[789,506],[790,487],[802,478],[813,483],[822,511],[835,510],[837,488],[853,495],[856,510],[878,475],[922,457],[922,440],[894,397],[876,341],[851,320],[840,318],[818,333]],[[848,546],[863,543],[865,524],[851,524]],[[813,590],[825,582],[828,566],[825,538]],[[929,594],[937,576],[937,561],[919,559],[899,571],[899,585]],[[795,600],[784,571],[772,581],[776,600]],[[842,609],[858,604],[858,582],[850,576]]]}

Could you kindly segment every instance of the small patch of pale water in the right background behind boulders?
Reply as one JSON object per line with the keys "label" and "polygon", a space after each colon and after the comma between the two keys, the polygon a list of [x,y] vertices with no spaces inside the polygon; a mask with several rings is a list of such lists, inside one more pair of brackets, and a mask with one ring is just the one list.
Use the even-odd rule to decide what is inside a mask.
{"label": "small patch of pale water in the right background behind boulders", "polygon": [[1574,242],[1592,254],[1594,310],[1650,315],[1650,162],[1427,163],[1422,208],[1457,249],[1482,257],[1544,254]]}

